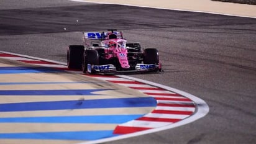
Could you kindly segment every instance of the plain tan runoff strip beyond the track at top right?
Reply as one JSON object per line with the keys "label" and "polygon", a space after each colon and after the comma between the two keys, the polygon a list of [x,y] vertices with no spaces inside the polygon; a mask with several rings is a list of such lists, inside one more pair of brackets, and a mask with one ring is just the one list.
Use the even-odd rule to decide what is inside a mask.
{"label": "plain tan runoff strip beyond the track at top right", "polygon": [[179,0],[160,1],[124,1],[124,0],[70,0],[75,2],[92,2],[97,4],[118,4],[124,6],[149,7],[153,9],[168,9],[174,11],[202,12],[208,14],[221,14],[226,16],[256,18],[254,5],[237,4],[232,2],[193,0],[190,3]]}

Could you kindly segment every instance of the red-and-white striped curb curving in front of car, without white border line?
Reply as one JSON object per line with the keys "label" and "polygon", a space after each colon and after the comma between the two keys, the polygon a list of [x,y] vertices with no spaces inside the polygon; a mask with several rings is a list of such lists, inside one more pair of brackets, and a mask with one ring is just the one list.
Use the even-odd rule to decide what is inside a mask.
{"label": "red-and-white striped curb curving in front of car, without white border line", "polygon": [[139,119],[117,125],[114,130],[115,134],[127,134],[149,130],[151,128],[164,127],[185,119],[186,117],[190,117],[196,110],[196,106],[191,99],[183,97],[173,91],[167,91],[156,86],[150,86],[149,84],[127,78],[120,78],[118,76],[91,75],[91,77],[104,79],[131,89],[136,89],[148,96],[154,97],[157,101],[157,107],[149,114]]}

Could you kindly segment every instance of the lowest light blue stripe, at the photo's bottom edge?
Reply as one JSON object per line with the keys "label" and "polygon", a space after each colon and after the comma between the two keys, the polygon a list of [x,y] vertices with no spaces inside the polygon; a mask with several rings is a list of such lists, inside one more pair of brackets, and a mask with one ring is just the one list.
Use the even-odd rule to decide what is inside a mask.
{"label": "lowest light blue stripe, at the photo's bottom edge", "polygon": [[0,133],[0,139],[40,139],[40,140],[98,140],[115,137],[113,130],[81,132],[35,132],[35,133]]}

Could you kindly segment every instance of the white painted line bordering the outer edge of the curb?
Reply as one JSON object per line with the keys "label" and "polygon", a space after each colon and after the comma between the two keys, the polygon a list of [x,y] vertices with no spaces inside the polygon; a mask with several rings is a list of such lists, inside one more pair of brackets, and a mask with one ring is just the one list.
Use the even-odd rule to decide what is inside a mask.
{"label": "white painted line bordering the outer edge of the curb", "polygon": [[[48,62],[52,62],[52,63],[56,63],[56,64],[59,64],[59,65],[65,65],[66,66],[65,63],[62,63],[60,61],[47,60],[47,59],[43,59],[43,58],[37,58],[37,57],[34,57],[34,56],[21,55],[21,54],[17,54],[17,53],[5,52],[5,51],[1,51],[1,50],[0,50],[0,53],[7,53],[7,54],[11,54],[11,55],[22,56],[22,57],[31,58],[31,59],[34,59],[34,60],[48,61]],[[120,77],[120,78],[125,78],[125,79],[138,81],[138,82],[141,82],[141,83],[147,83],[151,86],[157,86],[158,88],[163,88],[163,89],[166,89],[168,91],[173,91],[173,92],[176,92],[177,94],[181,94],[181,96],[188,97],[189,99],[191,99],[194,102],[194,106],[196,106],[196,112],[194,112],[194,114],[191,115],[190,117],[187,117],[187,118],[181,120],[180,122],[175,122],[174,124],[170,124],[168,126],[152,128],[152,129],[149,129],[149,130],[144,130],[144,131],[141,131],[141,132],[135,132],[135,133],[125,134],[125,135],[120,135],[120,136],[117,136],[117,137],[103,138],[103,139],[100,139],[100,140],[93,140],[93,141],[89,141],[89,142],[81,142],[81,143],[77,143],[77,144],[94,144],[94,143],[111,142],[111,141],[114,141],[114,140],[121,140],[121,139],[124,139],[124,138],[137,137],[137,136],[140,136],[140,135],[159,132],[159,131],[167,130],[167,129],[170,129],[170,128],[180,127],[181,125],[189,124],[191,122],[194,122],[195,120],[201,119],[202,117],[204,117],[209,112],[209,106],[208,106],[208,104],[206,104],[205,101],[203,101],[203,99],[200,99],[199,97],[193,96],[192,94],[189,94],[185,91],[180,91],[179,89],[171,88],[169,86],[164,86],[163,84],[153,83],[151,81],[147,81],[147,80],[144,80],[144,79],[133,78],[133,77],[130,77],[130,76],[125,76],[125,75],[116,75],[116,76]]]}

